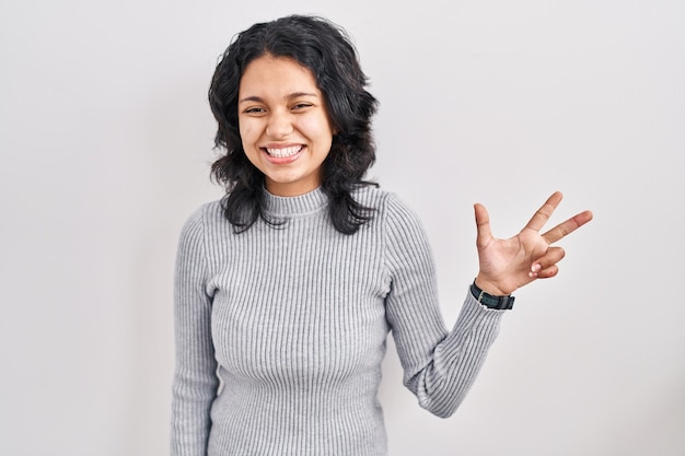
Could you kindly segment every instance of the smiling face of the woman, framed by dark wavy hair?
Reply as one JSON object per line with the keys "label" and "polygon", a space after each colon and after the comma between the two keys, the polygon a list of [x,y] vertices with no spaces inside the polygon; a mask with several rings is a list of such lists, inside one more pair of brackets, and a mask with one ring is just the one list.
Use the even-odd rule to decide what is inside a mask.
{"label": "smiling face of the woman, framed by dark wavy hair", "polygon": [[333,129],[307,68],[269,55],[253,60],[241,79],[237,119],[245,154],[269,192],[297,196],[321,185]]}

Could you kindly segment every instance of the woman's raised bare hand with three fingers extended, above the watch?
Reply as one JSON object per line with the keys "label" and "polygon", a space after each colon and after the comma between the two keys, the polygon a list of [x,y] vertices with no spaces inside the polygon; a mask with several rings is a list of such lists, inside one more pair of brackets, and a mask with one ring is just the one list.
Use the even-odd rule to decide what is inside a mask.
{"label": "woman's raised bare hand with three fingers extended, above the watch", "polygon": [[557,262],[564,258],[561,247],[552,244],[578,230],[592,220],[592,212],[584,211],[539,234],[561,202],[557,191],[535,212],[519,234],[508,239],[492,236],[490,218],[483,204],[476,203],[478,264],[480,270],[476,284],[495,295],[511,294],[514,290],[535,279],[555,277],[559,271]]}

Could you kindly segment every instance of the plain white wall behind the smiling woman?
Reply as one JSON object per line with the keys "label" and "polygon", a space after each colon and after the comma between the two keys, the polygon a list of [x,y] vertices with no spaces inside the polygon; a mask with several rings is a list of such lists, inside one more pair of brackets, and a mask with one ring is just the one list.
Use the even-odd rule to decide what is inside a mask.
{"label": "plain white wall behind the smiling woman", "polygon": [[[384,364],[392,456],[685,454],[685,3],[37,0],[0,5],[0,454],[167,454],[178,231],[209,182],[217,58],[254,22],[345,26],[370,173],[425,222],[446,324],[472,204],[513,235],[554,190],[560,274],[516,307],[457,413]],[[341,456],[341,455],[340,455]]]}

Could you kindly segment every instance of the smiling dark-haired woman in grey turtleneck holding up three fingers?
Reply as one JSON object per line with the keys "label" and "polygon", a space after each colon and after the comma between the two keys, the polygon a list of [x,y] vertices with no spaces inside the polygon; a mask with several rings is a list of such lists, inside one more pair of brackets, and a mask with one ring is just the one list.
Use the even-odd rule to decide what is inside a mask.
{"label": "smiling dark-haired woman in grey turtleneck holding up three fingers", "polygon": [[241,33],[217,66],[213,166],[227,187],[185,224],[176,281],[174,455],[386,454],[376,393],[393,331],[404,383],[448,417],[474,382],[511,293],[557,273],[538,231],[510,239],[475,207],[480,270],[451,331],[420,222],[363,180],[376,101],[345,32],[288,16]]}

